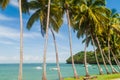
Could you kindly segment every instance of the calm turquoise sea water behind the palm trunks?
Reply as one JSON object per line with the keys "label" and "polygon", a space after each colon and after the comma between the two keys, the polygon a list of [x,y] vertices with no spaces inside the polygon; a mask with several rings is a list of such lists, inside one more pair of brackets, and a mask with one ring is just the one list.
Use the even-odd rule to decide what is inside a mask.
{"label": "calm turquoise sea water behind the palm trunks", "polygon": [[[85,69],[83,64],[75,65],[77,72],[80,75],[85,75]],[[101,65],[103,67],[103,65]],[[115,66],[115,65],[114,65]],[[17,80],[18,79],[18,64],[0,64],[0,80]],[[23,80],[41,80],[42,78],[42,64],[24,64],[23,65]],[[56,64],[47,64],[47,79],[48,80],[58,80],[58,75],[56,70],[51,70],[55,68]],[[63,77],[72,77],[73,70],[71,64],[60,64],[61,72]],[[108,66],[109,67],[109,66]],[[116,66],[115,66],[116,67]],[[88,67],[90,74],[99,74],[97,65],[91,65]],[[117,69],[117,68],[116,68]],[[103,67],[104,73],[105,69]],[[110,70],[110,67],[109,67]]]}

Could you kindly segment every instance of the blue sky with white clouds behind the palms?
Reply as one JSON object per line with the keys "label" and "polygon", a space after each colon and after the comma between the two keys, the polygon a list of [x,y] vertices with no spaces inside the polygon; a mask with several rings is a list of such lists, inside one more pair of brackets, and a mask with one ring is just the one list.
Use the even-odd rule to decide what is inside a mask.
{"label": "blue sky with white clouds behind the palms", "polygon": [[[107,0],[108,8],[115,8],[120,13],[120,0]],[[34,11],[31,11],[31,14]],[[45,38],[40,33],[40,23],[35,22],[31,30],[27,30],[26,23],[30,15],[23,14],[24,27],[24,63],[42,63],[43,47]],[[59,60],[65,63],[70,56],[67,20],[64,17],[64,23],[59,33],[55,33],[57,47],[59,52]],[[0,63],[19,63],[20,53],[20,26],[19,26],[19,9],[17,0],[11,0],[5,10],[0,9]],[[47,62],[55,63],[55,50],[51,32],[49,31],[47,49]],[[72,47],[73,54],[84,50],[82,39],[76,38],[76,34],[72,31]],[[88,51],[93,50],[92,46],[87,48]]]}

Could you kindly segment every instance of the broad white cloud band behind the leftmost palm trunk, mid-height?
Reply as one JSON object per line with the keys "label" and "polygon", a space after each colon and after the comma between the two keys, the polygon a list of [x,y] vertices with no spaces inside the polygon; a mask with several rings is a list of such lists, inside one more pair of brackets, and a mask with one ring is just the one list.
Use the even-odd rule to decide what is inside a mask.
{"label": "broad white cloud band behind the leftmost palm trunk, mid-height", "polygon": [[[40,37],[40,34],[37,32],[30,32],[30,33],[24,32],[23,35],[24,35],[25,39],[28,39],[28,38],[34,39],[34,38]],[[19,30],[13,29],[11,27],[9,28],[6,26],[0,26],[0,40],[3,40],[3,41],[1,41],[1,43],[2,42],[5,43],[4,39],[19,41],[19,39],[20,39]],[[6,41],[6,44],[8,44],[8,43],[11,44],[11,42]]]}

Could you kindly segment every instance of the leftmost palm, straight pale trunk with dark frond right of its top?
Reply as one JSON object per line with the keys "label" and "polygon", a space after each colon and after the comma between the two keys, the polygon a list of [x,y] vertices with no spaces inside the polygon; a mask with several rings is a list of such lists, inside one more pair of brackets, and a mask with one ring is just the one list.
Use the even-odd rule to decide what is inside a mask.
{"label": "leftmost palm, straight pale trunk with dark frond right of its top", "polygon": [[19,75],[18,80],[22,80],[23,73],[23,20],[22,12],[27,13],[29,11],[27,6],[27,0],[19,0],[19,15],[20,15],[20,65],[19,65]]}

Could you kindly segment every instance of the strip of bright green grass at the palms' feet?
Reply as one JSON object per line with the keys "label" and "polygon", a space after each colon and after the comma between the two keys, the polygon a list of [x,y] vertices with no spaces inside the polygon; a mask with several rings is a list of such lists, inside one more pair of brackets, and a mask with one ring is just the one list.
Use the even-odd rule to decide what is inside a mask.
{"label": "strip of bright green grass at the palms' feet", "polygon": [[[120,74],[109,74],[109,75],[105,74],[105,75],[93,75],[93,76],[97,76],[97,78],[92,80],[112,80],[112,79],[120,78]],[[76,80],[76,79],[65,78],[64,80]],[[83,76],[81,76],[79,80],[83,80]]]}

